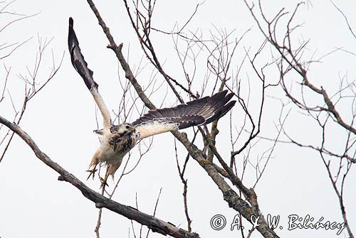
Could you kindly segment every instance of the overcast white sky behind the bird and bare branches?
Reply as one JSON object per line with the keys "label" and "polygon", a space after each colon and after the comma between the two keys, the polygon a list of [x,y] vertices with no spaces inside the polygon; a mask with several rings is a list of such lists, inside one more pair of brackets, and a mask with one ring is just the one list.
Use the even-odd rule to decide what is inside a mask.
{"label": "overcast white sky behind the bird and bare branches", "polygon": [[[155,28],[170,31],[175,23],[179,26],[189,18],[200,1],[157,1],[153,24]],[[262,1],[263,9],[268,16],[273,16],[281,7],[292,11],[298,1]],[[130,27],[130,22],[122,1],[95,1],[104,20],[117,43],[124,43],[124,52],[130,48],[129,63],[137,68],[142,59],[142,51],[138,45],[135,33]],[[335,4],[342,9],[348,18],[350,26],[356,26],[356,1],[342,1]],[[37,38],[52,38],[47,55],[43,58],[39,79],[44,80],[48,74],[53,51],[56,62],[66,52],[63,65],[58,75],[33,98],[28,104],[26,115],[23,117],[21,127],[32,136],[38,146],[53,161],[61,164],[70,173],[95,190],[99,190],[98,180],[86,181],[91,156],[98,146],[98,139],[93,134],[96,129],[95,104],[85,88],[82,80],[70,65],[67,47],[68,17],[75,20],[75,31],[80,41],[80,47],[91,70],[94,71],[95,80],[100,85],[100,92],[110,109],[117,109],[122,91],[117,77],[117,60],[111,50],[106,48],[108,40],[98,26],[97,20],[86,1],[44,1],[19,0],[9,6],[9,11],[38,16],[14,23],[6,31],[1,32],[0,43],[23,41],[31,36],[33,38],[17,50],[11,57],[1,61],[1,81],[4,83],[3,64],[10,67],[11,75],[9,91],[17,107],[21,106],[23,96],[23,82],[16,75],[26,74],[26,66],[33,68],[33,62],[38,50]],[[6,16],[0,18],[1,27],[7,23]],[[296,22],[303,23],[298,32],[298,39],[310,39],[308,56],[316,55],[320,58],[335,48],[343,48],[356,53],[355,38],[347,28],[342,17],[330,1],[310,1],[302,6]],[[187,26],[192,31],[201,29],[204,36],[209,37],[209,31],[226,29],[234,31],[231,39],[240,38],[251,28],[246,38],[241,41],[236,52],[236,66],[244,57],[244,48],[251,48],[251,52],[263,42],[261,33],[258,32],[256,23],[243,1],[204,1],[199,7],[197,15]],[[177,55],[173,49],[170,36],[155,35],[154,37],[159,58],[164,62],[164,67],[175,78],[183,80],[183,73],[179,67]],[[269,46],[268,46],[269,47]],[[269,50],[258,60],[264,65],[270,60]],[[197,79],[195,90],[199,91],[202,78],[206,72],[206,60],[198,61]],[[178,66],[177,66],[178,65]],[[309,77],[315,80],[316,85],[323,85],[327,90],[336,92],[340,75],[347,75],[350,81],[355,79],[355,55],[338,51],[310,67]],[[235,67],[235,66],[234,66]],[[268,80],[278,79],[276,71],[268,71]],[[256,80],[248,67],[243,68],[241,77],[245,80]],[[120,79],[125,80],[120,69]],[[162,77],[157,76],[158,82]],[[201,81],[199,81],[200,79]],[[150,70],[138,75],[142,85],[147,85],[150,80]],[[274,81],[275,82],[275,81]],[[253,82],[251,82],[253,86]],[[162,87],[153,100],[157,105],[162,103],[166,92]],[[2,87],[1,87],[2,88]],[[334,91],[333,91],[334,90]],[[252,90],[253,91],[253,90]],[[209,93],[211,90],[209,91]],[[268,92],[269,96],[283,97],[281,91]],[[330,93],[333,94],[333,93]],[[13,112],[9,104],[8,94],[6,103],[0,104],[1,116],[12,119]],[[185,99],[187,95],[182,94]],[[256,95],[256,94],[254,94]],[[256,97],[256,96],[253,96]],[[161,100],[159,100],[161,99]],[[252,103],[256,98],[251,99]],[[172,94],[168,94],[164,106],[171,106],[176,101]],[[266,113],[263,115],[263,128],[261,136],[273,137],[276,134],[273,124],[278,121],[281,104],[276,99],[266,101]],[[343,106],[344,104],[342,104]],[[347,107],[341,107],[342,113],[350,114]],[[242,123],[241,108],[234,108],[234,125]],[[305,117],[293,110],[290,121],[286,126],[296,139],[313,143],[318,139],[318,131]],[[350,117],[348,117],[350,118]],[[221,125],[229,124],[229,117],[221,120]],[[187,130],[191,131],[191,129]],[[221,136],[217,146],[221,153],[229,158],[229,126],[221,126]],[[328,143],[337,145],[340,136],[335,131],[330,131],[332,138]],[[201,145],[201,144],[200,144]],[[251,154],[251,161],[256,161],[261,156],[263,148],[268,144],[255,146]],[[335,146],[337,148],[337,146]],[[137,148],[134,155],[137,155]],[[182,146],[178,145],[179,161],[182,163],[186,156]],[[125,161],[124,161],[125,163]],[[133,166],[133,164],[131,164]],[[347,208],[350,226],[356,230],[356,192],[353,180],[356,179],[355,171],[351,171],[345,188],[345,205]],[[120,170],[117,172],[119,175]],[[254,170],[248,166],[246,184],[253,185]],[[117,176],[118,177],[118,176]],[[98,210],[93,202],[86,200],[72,185],[59,182],[58,174],[45,166],[36,158],[32,151],[19,138],[15,138],[0,163],[0,237],[95,237],[93,232]],[[236,231],[231,232],[229,226],[222,231],[211,229],[209,222],[216,214],[225,215],[231,222],[236,212],[229,209],[216,185],[193,160],[189,161],[187,168],[189,181],[188,203],[192,228],[201,237],[238,237]],[[112,184],[112,181],[110,181]],[[159,190],[162,194],[157,207],[157,217],[164,221],[172,222],[187,228],[184,217],[182,200],[182,183],[177,172],[174,157],[174,139],[171,134],[155,136],[152,148],[142,159],[133,173],[127,175],[120,183],[114,199],[125,205],[135,207],[135,198],[142,212],[152,214]],[[286,229],[288,215],[310,215],[318,220],[325,217],[331,222],[342,222],[342,217],[337,202],[337,197],[332,190],[328,175],[323,168],[323,163],[318,154],[308,149],[296,148],[293,145],[278,144],[273,152],[273,157],[266,173],[256,186],[256,193],[264,215],[281,215],[283,229],[277,230],[280,237],[336,237],[336,232],[323,229]],[[101,235],[102,237],[129,237],[132,230],[130,221],[125,217],[113,214],[107,210],[103,212]],[[136,232],[140,227],[135,225]],[[132,234],[130,234],[132,237]],[[161,237],[159,234],[150,234],[151,237]],[[261,237],[255,232],[254,237]],[[347,237],[346,232],[340,237]]]}

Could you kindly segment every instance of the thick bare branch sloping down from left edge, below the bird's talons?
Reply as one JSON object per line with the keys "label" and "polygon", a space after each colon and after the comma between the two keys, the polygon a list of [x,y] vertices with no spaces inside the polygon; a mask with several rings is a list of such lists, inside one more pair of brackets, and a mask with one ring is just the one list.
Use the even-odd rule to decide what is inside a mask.
{"label": "thick bare branch sloping down from left edge, below the bird's talons", "polygon": [[14,131],[14,133],[20,136],[21,139],[23,139],[23,141],[25,141],[26,144],[31,147],[33,153],[35,153],[37,158],[39,158],[48,167],[59,173],[60,176],[58,177],[58,180],[66,181],[71,185],[75,186],[75,188],[78,188],[78,190],[80,190],[80,192],[84,195],[85,198],[88,198],[88,200],[95,202],[96,207],[107,208],[108,210],[127,217],[130,220],[135,220],[136,222],[139,222],[140,224],[152,229],[152,232],[158,232],[159,234],[170,235],[172,237],[199,237],[199,234],[197,233],[187,232],[184,229],[174,227],[174,225],[168,222],[164,222],[162,220],[157,219],[156,217],[140,212],[135,208],[129,207],[127,205],[122,205],[118,202],[110,200],[109,198],[105,198],[100,193],[97,193],[94,190],[88,188],[88,186],[78,180],[78,178],[76,178],[73,174],[62,168],[58,163],[52,161],[51,158],[46,155],[46,153],[44,153],[43,151],[41,151],[40,148],[38,148],[35,141],[33,141],[33,139],[31,139],[31,137],[20,128],[20,126],[11,123],[11,121],[8,121],[1,116],[0,124],[4,124],[9,129],[11,129],[11,131]]}

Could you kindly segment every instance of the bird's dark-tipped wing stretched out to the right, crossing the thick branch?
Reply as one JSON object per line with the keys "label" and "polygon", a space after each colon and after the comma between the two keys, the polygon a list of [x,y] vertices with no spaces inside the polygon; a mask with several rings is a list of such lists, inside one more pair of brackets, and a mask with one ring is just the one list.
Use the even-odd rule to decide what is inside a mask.
{"label": "bird's dark-tipped wing stretched out to the right, crossing the thick branch", "polygon": [[227,94],[227,90],[224,90],[177,107],[151,110],[132,124],[140,139],[175,129],[209,124],[234,107],[236,101],[230,101],[232,96],[232,93]]}

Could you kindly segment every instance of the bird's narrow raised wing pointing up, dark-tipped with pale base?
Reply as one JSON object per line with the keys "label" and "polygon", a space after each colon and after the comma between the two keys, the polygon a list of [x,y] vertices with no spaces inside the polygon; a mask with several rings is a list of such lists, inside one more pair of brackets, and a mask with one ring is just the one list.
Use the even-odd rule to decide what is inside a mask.
{"label": "bird's narrow raised wing pointing up, dark-tipped with pale base", "polygon": [[73,18],[71,17],[69,18],[68,48],[73,67],[83,78],[85,85],[93,95],[94,100],[103,115],[104,128],[109,129],[111,126],[110,112],[98,92],[98,84],[93,79],[93,71],[88,68],[88,63],[85,62],[84,56],[80,52],[78,38],[75,36],[75,31],[73,29]]}

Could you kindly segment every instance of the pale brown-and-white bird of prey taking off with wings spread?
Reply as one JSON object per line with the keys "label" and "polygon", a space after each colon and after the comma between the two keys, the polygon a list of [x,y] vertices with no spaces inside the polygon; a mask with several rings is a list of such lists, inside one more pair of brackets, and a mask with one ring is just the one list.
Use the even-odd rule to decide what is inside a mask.
{"label": "pale brown-and-white bird of prey taking off with wings spread", "polygon": [[89,166],[90,175],[93,176],[98,165],[107,167],[102,186],[105,186],[109,175],[114,176],[122,158],[140,139],[167,131],[209,124],[229,112],[236,102],[230,101],[233,94],[227,94],[227,90],[224,90],[211,97],[195,99],[177,107],[151,110],[132,123],[113,125],[110,112],[98,92],[98,84],[93,79],[93,71],[88,68],[80,52],[73,29],[73,18],[69,18],[68,48],[73,67],[83,78],[103,115],[103,129],[94,131],[101,136],[100,146]]}

